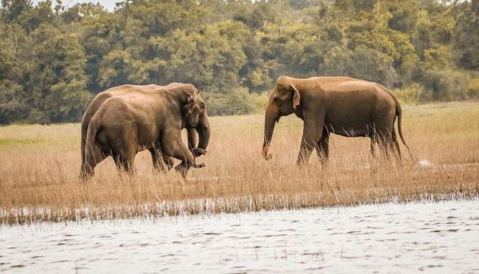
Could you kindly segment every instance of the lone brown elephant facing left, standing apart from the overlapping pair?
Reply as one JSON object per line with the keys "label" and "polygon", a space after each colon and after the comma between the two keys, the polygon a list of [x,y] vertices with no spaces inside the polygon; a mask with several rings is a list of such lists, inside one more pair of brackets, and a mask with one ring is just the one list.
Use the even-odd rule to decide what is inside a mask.
{"label": "lone brown elephant facing left, standing apart from the overlapping pair", "polygon": [[[326,164],[329,156],[331,133],[347,137],[371,138],[371,153],[377,143],[387,154],[388,145],[401,157],[399,142],[394,129],[398,116],[398,132],[401,129],[401,106],[392,92],[374,82],[350,77],[310,77],[298,79],[281,76],[268,99],[264,123],[262,155],[268,154],[275,123],[281,116],[296,114],[303,121],[298,164],[306,164],[316,149],[318,158]],[[411,155],[411,152],[409,152]]]}

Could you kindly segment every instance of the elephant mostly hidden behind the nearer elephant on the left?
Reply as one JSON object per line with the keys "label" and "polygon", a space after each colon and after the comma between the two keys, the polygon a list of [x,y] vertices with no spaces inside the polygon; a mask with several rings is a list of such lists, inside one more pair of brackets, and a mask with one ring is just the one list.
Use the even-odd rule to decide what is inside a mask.
{"label": "elephant mostly hidden behind the nearer elephant on the left", "polygon": [[[86,144],[86,134],[88,130],[88,125],[90,124],[90,121],[94,114],[96,113],[97,110],[99,110],[100,106],[105,102],[105,100],[114,97],[114,96],[124,96],[127,95],[129,92],[135,92],[136,89],[142,89],[142,90],[158,90],[159,88],[170,88],[173,86],[178,86],[182,85],[183,83],[171,83],[168,84],[168,86],[157,86],[155,84],[150,84],[150,85],[130,85],[130,84],[125,84],[121,86],[116,86],[113,88],[109,88],[103,92],[99,92],[98,95],[94,97],[90,105],[88,105],[87,110],[83,114],[83,117],[81,119],[81,166],[85,164],[85,144]],[[200,99],[199,103],[202,103],[203,100]],[[204,103],[204,102],[203,102]],[[199,113],[199,121],[196,127],[187,127],[187,136],[188,136],[188,145],[190,149],[192,150],[192,153],[196,157],[203,155],[206,153],[205,149],[208,145],[209,141],[209,131],[207,130],[209,128],[209,120],[207,116],[207,112],[205,109],[200,110],[198,109]],[[183,117],[185,119],[185,117]],[[185,121],[182,123],[182,128],[186,127]],[[196,133],[195,129],[200,135],[200,142],[199,142],[199,147],[196,147]],[[94,152],[96,154],[101,153],[101,149],[98,146],[93,146],[92,147]],[[153,160],[153,166],[157,171],[161,171],[163,173],[166,173],[166,171],[170,170],[174,164],[174,160],[172,157],[165,155],[164,153],[161,153],[161,149],[158,148],[152,148],[148,149],[151,153],[151,158]],[[81,172],[81,175],[85,175],[85,173]]]}

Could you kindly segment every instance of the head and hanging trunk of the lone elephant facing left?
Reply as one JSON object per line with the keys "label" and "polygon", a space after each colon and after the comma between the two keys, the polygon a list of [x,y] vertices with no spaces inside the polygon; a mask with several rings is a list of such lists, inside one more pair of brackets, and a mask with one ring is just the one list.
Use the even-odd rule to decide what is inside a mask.
{"label": "head and hanging trunk of the lone elephant facing left", "polygon": [[299,105],[300,92],[296,88],[294,79],[286,76],[279,77],[266,107],[263,142],[263,156],[266,160],[272,158],[268,154],[268,149],[273,136],[274,124],[279,121],[281,116],[294,113]]}

